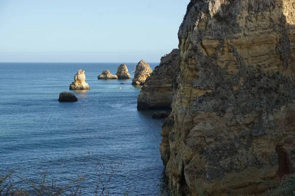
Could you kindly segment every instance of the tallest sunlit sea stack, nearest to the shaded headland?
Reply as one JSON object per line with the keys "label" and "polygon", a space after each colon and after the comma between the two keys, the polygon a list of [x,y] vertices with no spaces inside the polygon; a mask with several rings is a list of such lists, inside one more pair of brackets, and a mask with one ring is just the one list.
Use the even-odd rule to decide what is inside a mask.
{"label": "tallest sunlit sea stack, nearest to the shaded headland", "polygon": [[144,85],[147,77],[152,73],[151,68],[148,63],[141,60],[135,68],[134,78],[132,79],[132,84],[134,85]]}

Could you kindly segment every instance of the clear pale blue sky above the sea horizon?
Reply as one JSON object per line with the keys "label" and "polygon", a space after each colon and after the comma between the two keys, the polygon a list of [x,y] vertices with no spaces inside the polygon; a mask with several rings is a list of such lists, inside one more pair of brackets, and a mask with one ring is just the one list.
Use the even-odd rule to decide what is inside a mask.
{"label": "clear pale blue sky above the sea horizon", "polygon": [[189,0],[0,0],[0,62],[159,62]]}

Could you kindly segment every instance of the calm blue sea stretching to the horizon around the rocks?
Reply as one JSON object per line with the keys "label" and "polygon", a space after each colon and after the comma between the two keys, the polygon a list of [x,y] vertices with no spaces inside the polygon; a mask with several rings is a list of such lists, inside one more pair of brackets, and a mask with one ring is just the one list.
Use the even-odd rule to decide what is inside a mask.
{"label": "calm blue sea stretching to the horizon around the rocks", "polygon": [[[133,77],[134,63],[126,65]],[[149,65],[153,69],[158,63]],[[14,169],[38,180],[46,170],[58,184],[87,175],[83,195],[92,196],[96,174],[106,183],[114,171],[111,195],[159,195],[161,120],[151,118],[154,111],[137,110],[140,88],[131,85],[132,79],[97,79],[106,69],[115,74],[118,66],[0,63],[0,173]],[[78,102],[59,102],[79,69],[85,70],[91,90],[71,91]]]}

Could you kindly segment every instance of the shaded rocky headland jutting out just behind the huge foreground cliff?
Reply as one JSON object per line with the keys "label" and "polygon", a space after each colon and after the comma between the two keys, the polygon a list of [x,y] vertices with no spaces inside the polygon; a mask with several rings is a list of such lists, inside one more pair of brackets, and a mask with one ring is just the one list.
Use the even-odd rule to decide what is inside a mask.
{"label": "shaded rocky headland jutting out just behind the huge foreground cliff", "polygon": [[161,58],[160,65],[146,79],[137,98],[137,108],[170,108],[179,59],[179,49]]}

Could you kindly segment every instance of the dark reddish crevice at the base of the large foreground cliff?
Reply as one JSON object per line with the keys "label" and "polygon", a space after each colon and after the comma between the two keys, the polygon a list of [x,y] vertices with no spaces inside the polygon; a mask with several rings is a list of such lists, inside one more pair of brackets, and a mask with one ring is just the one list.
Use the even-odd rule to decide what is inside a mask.
{"label": "dark reddish crevice at the base of the large foreground cliff", "polygon": [[292,160],[289,152],[283,146],[276,146],[275,150],[278,154],[278,172],[277,175],[282,178],[285,175],[294,173],[295,170],[292,167]]}

